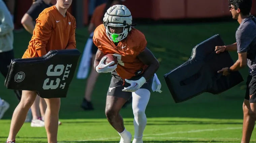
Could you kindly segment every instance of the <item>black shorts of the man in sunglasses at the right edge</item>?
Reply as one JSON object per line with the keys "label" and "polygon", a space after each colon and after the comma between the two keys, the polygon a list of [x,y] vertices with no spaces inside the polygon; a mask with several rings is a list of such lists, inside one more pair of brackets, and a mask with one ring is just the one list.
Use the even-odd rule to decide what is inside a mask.
{"label": "black shorts of the man in sunglasses at the right edge", "polygon": [[245,99],[249,100],[250,103],[255,103],[256,102],[256,75],[255,76],[248,75],[246,85],[247,85],[247,88],[245,93]]}

